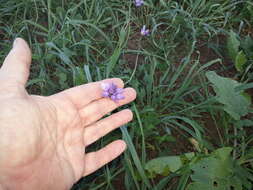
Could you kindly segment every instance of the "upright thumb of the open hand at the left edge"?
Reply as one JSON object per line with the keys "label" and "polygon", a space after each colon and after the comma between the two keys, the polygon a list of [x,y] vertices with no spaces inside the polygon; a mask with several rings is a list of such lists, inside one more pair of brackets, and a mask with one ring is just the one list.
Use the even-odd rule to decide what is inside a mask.
{"label": "upright thumb of the open hand at the left edge", "polygon": [[25,86],[29,77],[30,64],[31,50],[22,38],[17,38],[0,69],[0,80]]}

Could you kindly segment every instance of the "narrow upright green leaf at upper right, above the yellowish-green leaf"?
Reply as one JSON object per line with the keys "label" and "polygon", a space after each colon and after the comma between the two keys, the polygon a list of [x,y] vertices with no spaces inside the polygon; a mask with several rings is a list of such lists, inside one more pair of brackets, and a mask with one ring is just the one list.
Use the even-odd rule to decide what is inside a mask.
{"label": "narrow upright green leaf at upper right, above the yellowish-green leaf", "polygon": [[232,30],[229,33],[229,37],[227,40],[227,49],[228,49],[228,54],[230,58],[235,62],[236,55],[239,52],[239,46],[240,46],[240,41],[236,37],[236,33],[234,33]]}

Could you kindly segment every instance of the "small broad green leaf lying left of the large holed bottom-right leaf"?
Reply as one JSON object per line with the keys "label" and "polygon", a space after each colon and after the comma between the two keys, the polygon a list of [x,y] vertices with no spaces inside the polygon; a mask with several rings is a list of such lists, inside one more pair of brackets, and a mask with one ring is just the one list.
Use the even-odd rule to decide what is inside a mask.
{"label": "small broad green leaf lying left of the large holed bottom-right leaf", "polygon": [[170,172],[176,172],[182,166],[180,156],[158,157],[147,162],[145,169],[154,176],[168,175]]}

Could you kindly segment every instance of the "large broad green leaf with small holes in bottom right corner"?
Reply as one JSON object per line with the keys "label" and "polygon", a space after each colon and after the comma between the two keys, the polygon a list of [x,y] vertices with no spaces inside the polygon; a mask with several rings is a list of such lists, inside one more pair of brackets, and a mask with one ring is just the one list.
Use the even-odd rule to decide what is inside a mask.
{"label": "large broad green leaf with small holes in bottom right corner", "polygon": [[[231,147],[223,147],[190,166],[192,183],[187,190],[242,190],[240,176],[236,175],[236,163],[231,158]],[[242,172],[239,172],[242,173]],[[246,184],[248,181],[246,179]]]}

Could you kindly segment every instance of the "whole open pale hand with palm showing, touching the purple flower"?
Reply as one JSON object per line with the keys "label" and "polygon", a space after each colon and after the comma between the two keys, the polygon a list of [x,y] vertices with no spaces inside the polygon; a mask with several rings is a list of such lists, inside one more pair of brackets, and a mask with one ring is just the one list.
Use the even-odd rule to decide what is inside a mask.
{"label": "whole open pale hand with palm showing, touching the purple flower", "polygon": [[[85,147],[132,120],[128,109],[104,116],[136,97],[102,98],[102,82],[123,87],[121,79],[77,86],[44,97],[29,95],[31,51],[17,38],[0,69],[0,189],[65,190],[118,157],[125,149],[116,140],[96,152]],[[103,118],[103,119],[101,119]]]}

